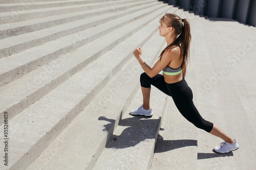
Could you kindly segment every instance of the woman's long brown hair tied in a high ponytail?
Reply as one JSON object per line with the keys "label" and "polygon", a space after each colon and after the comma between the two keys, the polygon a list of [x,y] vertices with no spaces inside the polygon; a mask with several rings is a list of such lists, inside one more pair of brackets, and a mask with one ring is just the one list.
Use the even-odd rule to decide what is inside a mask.
{"label": "woman's long brown hair tied in a high ponytail", "polygon": [[[190,35],[190,26],[189,26],[189,21],[187,19],[181,19],[178,15],[176,14],[168,14],[166,13],[162,18],[160,18],[159,22],[164,21],[164,23],[167,25],[167,27],[173,27],[176,36],[176,40],[166,46],[162,53],[160,54],[160,59],[165,51],[172,50],[176,46],[180,47],[180,57],[182,58],[182,74],[185,77],[186,75],[186,67],[188,64],[189,60],[189,46],[190,46],[190,41],[191,41],[191,35]],[[184,24],[184,26],[182,25]]]}

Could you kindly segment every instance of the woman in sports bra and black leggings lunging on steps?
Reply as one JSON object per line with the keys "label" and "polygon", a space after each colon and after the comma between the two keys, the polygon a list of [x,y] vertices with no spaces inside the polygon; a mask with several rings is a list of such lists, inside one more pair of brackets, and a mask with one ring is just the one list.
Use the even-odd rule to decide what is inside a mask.
{"label": "woman in sports bra and black leggings lunging on steps", "polygon": [[[172,96],[178,110],[189,122],[225,141],[214,148],[216,152],[227,153],[237,150],[239,148],[237,140],[228,136],[216,125],[203,119],[193,103],[193,93],[184,79],[191,39],[188,20],[181,19],[175,14],[166,13],[159,22],[161,23],[159,34],[165,38],[167,46],[153,68],[141,58],[140,47],[136,48],[133,53],[145,72],[140,76],[143,105],[130,113],[144,116],[153,115],[150,107],[150,91],[151,85],[153,85],[165,94]],[[163,70],[163,75],[158,74],[161,70]]]}

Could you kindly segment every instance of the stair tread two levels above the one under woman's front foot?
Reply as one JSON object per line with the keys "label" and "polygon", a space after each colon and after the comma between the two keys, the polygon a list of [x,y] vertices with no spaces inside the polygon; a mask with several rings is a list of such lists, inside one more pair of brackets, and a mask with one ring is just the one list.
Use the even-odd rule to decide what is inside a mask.
{"label": "stair tread two levels above the one under woman's front foot", "polygon": [[[169,7],[165,7],[165,9],[167,9],[167,8],[169,8]],[[152,24],[156,25],[156,22],[152,23]],[[134,40],[132,40],[132,39],[134,39],[134,38],[137,39],[136,38],[137,35],[140,35],[141,37],[146,37],[143,34],[147,34],[148,28],[150,28],[151,25],[144,27],[138,33],[131,36],[129,38],[130,41],[127,41],[127,44],[125,44],[126,49],[136,48],[137,45],[134,44]],[[154,28],[153,30],[156,30],[156,28]],[[141,42],[141,40],[138,41],[137,43],[140,44],[139,42]],[[117,50],[119,50],[118,47],[115,47],[115,48],[117,48]],[[130,51],[132,51],[132,49]],[[113,50],[110,53],[118,54],[117,52],[114,52]],[[76,109],[76,106],[79,105],[79,103],[81,102],[81,100],[83,100],[84,97],[86,97],[87,95],[92,95],[92,91],[95,91],[96,86],[100,86],[102,84],[102,83],[97,83],[97,81],[102,82],[105,79],[111,78],[111,75],[113,74],[111,72],[113,72],[113,70],[111,70],[111,72],[107,71],[108,69],[110,69],[110,65],[108,65],[106,63],[110,63],[110,61],[112,60],[111,61],[111,63],[112,63],[111,69],[117,69],[115,66],[117,64],[115,64],[115,63],[121,62],[123,59],[121,58],[121,56],[118,59],[111,57],[110,53],[101,56],[100,61],[97,60],[94,62],[95,64],[92,64],[92,63],[89,64],[86,68],[79,71],[78,74],[74,75],[68,81],[66,81],[65,83],[62,83],[56,89],[54,89],[53,91],[48,93],[46,96],[41,98],[39,101],[35,102],[33,105],[28,107],[26,110],[24,110],[23,112],[19,113],[18,115],[16,115],[15,117],[13,117],[12,119],[9,120],[10,124],[12,122],[15,122],[15,125],[12,126],[13,129],[20,129],[17,127],[22,126],[23,127],[22,129],[24,131],[24,127],[26,127],[27,129],[30,129],[29,127],[32,126],[31,128],[33,128],[32,132],[34,134],[34,135],[31,133],[20,134],[18,131],[14,131],[14,130],[12,132],[10,132],[11,134],[13,134],[15,136],[15,139],[17,140],[15,143],[12,143],[12,145],[9,146],[10,152],[11,151],[15,152],[14,150],[12,150],[12,148],[16,148],[16,146],[18,146],[19,143],[25,144],[24,140],[27,140],[27,142],[29,143],[29,145],[27,145],[27,147],[24,146],[22,150],[16,151],[16,153],[14,154],[15,156],[13,156],[14,160],[16,160],[17,157],[23,156],[24,151],[26,153],[26,151],[29,149],[28,147],[30,146],[30,144],[32,142],[41,140],[41,136],[37,136],[38,133],[41,132],[44,135],[47,133],[51,133],[50,129],[52,129],[53,127],[54,127],[54,129],[57,128],[56,127],[57,122],[60,121],[61,123],[58,123],[58,125],[61,126],[61,124],[63,124],[65,121],[68,121],[68,120],[65,120],[65,117],[71,116],[71,115],[68,115],[68,113],[70,111],[72,112],[74,109]],[[120,53],[120,50],[119,50],[119,53]],[[125,53],[129,54],[130,52],[125,52]],[[104,57],[106,55],[110,55],[110,56]],[[124,55],[124,53],[123,53],[123,55]],[[103,64],[105,64],[105,66],[102,66]],[[98,72],[101,72],[101,74],[98,74]],[[81,75],[83,75],[83,76],[81,76]],[[84,88],[81,88],[81,87],[84,87]],[[67,89],[69,89],[69,90],[67,90]],[[51,102],[53,100],[54,100],[54,102]],[[66,103],[65,105],[63,105],[64,101]],[[50,113],[51,110],[53,110],[53,109],[55,110],[54,114]],[[30,115],[31,113],[35,113],[35,112],[37,114]],[[40,113],[44,113],[44,114],[40,114]],[[46,113],[51,115],[51,117],[48,117]],[[70,113],[70,114],[74,114],[74,113]],[[40,115],[39,118],[38,118],[38,115]],[[26,121],[25,121],[25,119],[26,119]],[[32,123],[32,121],[34,121],[34,124],[36,124],[36,122],[39,121],[37,124],[37,127],[33,127],[34,124]],[[50,122],[52,122],[51,125],[49,125]],[[46,123],[48,124],[47,127],[45,126]],[[58,128],[60,128],[60,127],[58,127]],[[56,133],[56,132],[54,132],[54,133]],[[20,135],[22,135],[22,136],[20,136]],[[49,135],[50,134],[48,134],[47,136],[49,136]]]}

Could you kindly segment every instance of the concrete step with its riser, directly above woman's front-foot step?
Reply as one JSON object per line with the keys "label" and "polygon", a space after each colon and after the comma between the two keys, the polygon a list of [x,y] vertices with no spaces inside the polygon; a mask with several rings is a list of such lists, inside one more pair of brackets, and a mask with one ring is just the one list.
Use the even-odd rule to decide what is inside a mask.
{"label": "concrete step with its riser, directly above woman's front-foot step", "polygon": [[[157,40],[153,43],[159,43],[159,42],[160,41]],[[145,49],[144,47],[142,47],[142,48]],[[145,54],[145,52],[144,52],[144,54]],[[155,58],[156,56],[158,56],[158,54],[159,54],[159,51],[156,53],[155,56],[153,56],[152,53],[150,55],[147,55],[147,58],[146,58],[147,63],[152,63],[152,61],[151,61],[152,58],[153,57]],[[78,127],[77,125],[82,123],[82,121],[80,120],[81,118],[84,119],[87,117],[87,115],[91,115],[90,116],[91,118],[90,118],[88,124],[83,125],[83,127],[86,129],[93,130],[93,133],[89,132],[86,129],[82,130],[81,135],[87,136],[87,139],[81,142],[81,140],[78,140],[76,138],[75,141],[78,145],[81,144],[83,152],[79,153],[76,157],[72,158],[72,160],[74,160],[75,162],[80,162],[80,159],[83,159],[83,162],[85,162],[84,164],[88,165],[88,166],[81,166],[80,163],[75,163],[77,166],[74,168],[82,168],[82,169],[84,169],[85,167],[87,167],[86,169],[93,168],[96,160],[98,159],[102,150],[105,147],[106,141],[109,139],[109,137],[112,135],[112,132],[117,127],[121,114],[126,112],[127,106],[129,106],[135,93],[139,89],[139,86],[138,86],[139,82],[138,82],[138,79],[136,79],[136,77],[139,76],[141,69],[140,70],[136,69],[137,71],[133,72],[132,71],[133,69],[131,69],[131,68],[134,68],[134,67],[136,67],[136,68],[139,67],[136,60],[132,59],[131,61],[127,62],[122,67],[122,69],[120,71],[118,71],[118,74],[115,77],[113,77],[113,80],[111,80],[111,82],[108,85],[106,85],[95,96],[95,98],[90,102],[90,104],[86,108],[84,108],[84,110],[76,118],[74,118],[74,120],[71,122],[71,124],[58,136],[58,138],[59,137],[65,138],[66,139],[65,142],[67,142],[65,144],[69,145],[69,143],[72,143],[72,141],[67,138],[67,136],[69,136],[69,133],[73,132]],[[127,73],[127,74],[125,74],[125,73]],[[132,73],[132,75],[130,75],[129,73]],[[129,79],[127,79],[128,75],[130,76]],[[126,80],[124,80],[124,79],[126,79]],[[128,84],[125,83],[127,81],[129,81]],[[104,99],[105,96],[109,96],[109,93],[110,93],[109,89],[116,87],[118,83],[125,86],[125,88],[117,88],[116,93],[113,94],[113,98],[112,98],[111,102],[106,102],[106,103],[100,102],[102,99]],[[129,95],[129,97],[126,97],[128,95]],[[122,97],[116,98],[114,96],[122,96]],[[99,105],[99,107],[98,107],[98,105]],[[100,105],[102,105],[102,106],[100,106]],[[96,107],[96,109],[95,109],[95,107]],[[102,131],[101,128],[96,128],[96,127],[99,127],[100,125],[102,126],[102,128],[104,128],[103,125],[105,124],[105,122],[98,120],[99,117],[102,115],[104,115],[104,117],[106,117],[106,118],[113,119],[113,121],[111,121],[111,125],[105,126],[106,132]],[[78,131],[80,131],[80,130],[78,130]],[[95,133],[98,135],[95,136],[94,135]],[[52,148],[55,148],[54,146],[56,145],[56,142],[58,142],[58,141],[54,140],[51,143],[51,145],[49,145],[49,147],[38,157],[38,159],[36,159],[27,169],[33,169],[33,167],[37,167],[36,165],[40,165],[42,161],[44,162],[46,160],[46,159],[44,159],[44,156],[46,156],[47,153],[49,153]],[[70,149],[73,150],[74,148],[71,147]],[[89,150],[90,150],[90,152],[88,152]],[[69,152],[70,151],[63,149],[63,150],[59,151],[58,156],[55,156],[55,158],[61,157],[61,159],[64,159],[64,160],[69,159],[67,157],[67,154]],[[81,154],[83,155],[83,158],[81,157]],[[55,159],[55,158],[53,158],[53,159]],[[44,165],[45,166],[43,166],[42,169],[53,166],[53,164],[50,162],[44,163]],[[59,164],[57,166],[64,167],[63,164]]]}

